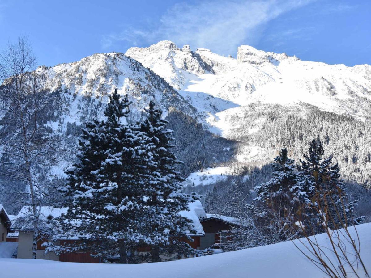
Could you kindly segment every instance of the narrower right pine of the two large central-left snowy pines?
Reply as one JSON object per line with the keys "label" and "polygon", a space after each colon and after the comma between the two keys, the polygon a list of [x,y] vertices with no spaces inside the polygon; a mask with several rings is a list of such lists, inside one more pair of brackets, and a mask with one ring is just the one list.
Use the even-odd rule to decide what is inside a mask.
{"label": "narrower right pine of the two large central-left snowy pines", "polygon": [[150,178],[146,183],[145,222],[148,226],[144,242],[151,246],[151,261],[158,262],[161,254],[177,253],[181,257],[194,253],[190,245],[180,240],[191,240],[187,234],[195,232],[192,222],[178,214],[188,210],[188,203],[194,199],[182,192],[184,179],[176,171],[176,166],[182,162],[170,151],[174,138],[172,130],[166,128],[168,122],[161,119],[162,111],[155,109],[151,101],[146,112],[148,118],[142,123],[141,131],[147,134],[154,148],[151,152],[153,163],[148,167]]}

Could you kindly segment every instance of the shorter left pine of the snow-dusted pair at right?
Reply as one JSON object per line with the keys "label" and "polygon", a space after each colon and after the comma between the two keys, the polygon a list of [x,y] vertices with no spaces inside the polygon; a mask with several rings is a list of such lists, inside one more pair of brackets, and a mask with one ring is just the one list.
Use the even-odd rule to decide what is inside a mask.
{"label": "shorter left pine of the snow-dusted pair at right", "polygon": [[258,195],[254,201],[262,203],[260,208],[249,205],[258,222],[264,222],[268,227],[272,242],[297,235],[295,222],[300,219],[302,207],[309,203],[299,183],[295,162],[287,153],[287,149],[282,149],[274,159],[276,163],[272,164],[274,171],[270,181],[254,187]]}

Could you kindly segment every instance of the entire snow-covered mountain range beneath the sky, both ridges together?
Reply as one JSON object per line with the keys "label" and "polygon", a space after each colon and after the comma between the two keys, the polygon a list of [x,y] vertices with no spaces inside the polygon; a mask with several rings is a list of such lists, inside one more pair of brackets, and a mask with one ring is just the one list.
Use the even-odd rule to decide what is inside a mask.
{"label": "entire snow-covered mountain range beneath the sky, both ridges together", "polygon": [[[117,88],[133,102],[129,120],[150,100],[171,119],[184,175],[230,159],[263,165],[282,147],[298,160],[320,138],[346,178],[371,187],[370,65],[301,61],[251,46],[240,46],[234,59],[162,41],[37,73],[51,99],[45,125],[70,150]],[[73,159],[50,171],[61,173]]]}

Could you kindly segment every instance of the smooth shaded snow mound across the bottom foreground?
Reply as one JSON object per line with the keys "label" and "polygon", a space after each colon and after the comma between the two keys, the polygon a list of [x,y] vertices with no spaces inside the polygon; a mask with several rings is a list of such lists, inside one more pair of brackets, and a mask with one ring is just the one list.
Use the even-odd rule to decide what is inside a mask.
{"label": "smooth shaded snow mound across the bottom foreground", "polygon": [[[354,234],[354,229],[349,228]],[[357,226],[361,257],[371,272],[371,223]],[[316,236],[319,244],[328,246],[326,235]],[[305,239],[304,239],[305,240]],[[299,242],[296,242],[301,246]],[[349,249],[350,250],[350,249]],[[329,253],[330,255],[331,253]],[[33,259],[0,259],[1,277],[81,278],[178,278],[178,277],[301,277],[325,275],[295,248],[292,242],[240,251],[139,265],[82,264]],[[349,277],[352,277],[351,275]],[[362,276],[361,276],[362,277]]]}

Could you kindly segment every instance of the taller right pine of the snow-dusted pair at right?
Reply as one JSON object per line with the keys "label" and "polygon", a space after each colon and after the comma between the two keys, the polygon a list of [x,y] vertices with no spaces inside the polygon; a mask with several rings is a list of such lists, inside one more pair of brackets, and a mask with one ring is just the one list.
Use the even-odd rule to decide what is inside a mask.
{"label": "taller right pine of the snow-dusted pair at right", "polygon": [[[344,224],[362,223],[364,217],[354,217],[353,208],[357,201],[348,201],[344,182],[340,179],[339,165],[332,163],[332,156],[324,157],[320,140],[312,140],[308,154],[304,155],[304,160],[300,160],[300,163],[299,176],[304,191],[311,200],[311,208],[308,208],[307,213],[313,217],[309,219],[312,224],[322,223],[324,216],[332,229]],[[312,228],[318,231],[318,225],[312,225]]]}

